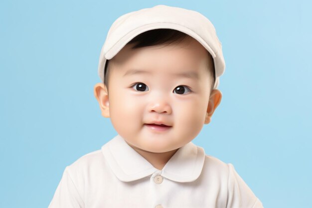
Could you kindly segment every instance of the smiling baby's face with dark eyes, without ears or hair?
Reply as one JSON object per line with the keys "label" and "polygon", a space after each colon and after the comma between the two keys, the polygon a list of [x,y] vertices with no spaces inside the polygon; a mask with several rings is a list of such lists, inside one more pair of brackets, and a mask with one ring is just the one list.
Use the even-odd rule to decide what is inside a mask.
{"label": "smiling baby's face with dark eyes, without ears or hair", "polygon": [[118,134],[132,147],[154,153],[193,140],[204,125],[209,101],[207,56],[194,39],[124,47],[111,62],[108,81],[109,116]]}

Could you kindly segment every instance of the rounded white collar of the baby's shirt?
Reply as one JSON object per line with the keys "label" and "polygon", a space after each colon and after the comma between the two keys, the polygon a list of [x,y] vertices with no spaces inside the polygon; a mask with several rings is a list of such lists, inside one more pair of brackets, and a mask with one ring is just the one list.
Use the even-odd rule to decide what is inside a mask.
{"label": "rounded white collar of the baby's shirt", "polygon": [[139,180],[156,172],[175,182],[192,182],[199,177],[205,159],[204,149],[189,142],[175,152],[162,170],[158,170],[120,135],[103,145],[102,153],[113,173],[123,182]]}

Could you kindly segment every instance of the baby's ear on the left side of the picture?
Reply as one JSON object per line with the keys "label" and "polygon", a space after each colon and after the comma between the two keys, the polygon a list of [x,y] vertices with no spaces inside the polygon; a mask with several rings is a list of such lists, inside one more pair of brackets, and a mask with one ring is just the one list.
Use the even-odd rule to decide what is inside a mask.
{"label": "baby's ear on the left side of the picture", "polygon": [[94,86],[94,96],[99,102],[102,116],[104,116],[105,118],[109,118],[110,108],[109,108],[107,87],[103,83],[97,83]]}

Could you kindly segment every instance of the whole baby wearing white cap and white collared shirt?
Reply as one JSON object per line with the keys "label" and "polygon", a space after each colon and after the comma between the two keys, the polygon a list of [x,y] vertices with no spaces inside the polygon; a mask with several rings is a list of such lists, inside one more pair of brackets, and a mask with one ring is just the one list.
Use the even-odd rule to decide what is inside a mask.
{"label": "whole baby wearing white cap and white collared shirt", "polygon": [[224,69],[214,26],[196,11],[119,17],[94,87],[118,135],[65,168],[49,208],[263,208],[232,164],[191,142],[220,104]]}

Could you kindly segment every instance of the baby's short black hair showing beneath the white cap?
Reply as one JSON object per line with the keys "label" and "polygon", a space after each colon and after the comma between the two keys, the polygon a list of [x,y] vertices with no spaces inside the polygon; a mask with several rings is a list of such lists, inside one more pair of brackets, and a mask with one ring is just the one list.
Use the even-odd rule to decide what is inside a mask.
{"label": "baby's short black hair showing beneath the white cap", "polygon": [[[130,40],[128,44],[135,43],[134,46],[132,46],[132,49],[136,48],[142,48],[147,46],[154,46],[154,45],[169,45],[173,43],[180,43],[185,38],[190,37],[188,34],[175,30],[175,29],[153,29],[148,30],[146,32],[143,32],[136,37],[134,37],[132,40]],[[208,56],[211,57],[210,53],[207,51]],[[212,59],[213,60],[213,59]],[[215,81],[215,70],[214,70],[214,64],[212,64],[213,67],[208,67],[208,70],[210,72],[210,75],[212,77],[212,84],[211,84],[211,90],[214,85]],[[104,68],[104,84],[108,88],[108,77],[109,77],[109,60],[106,60],[105,68]]]}

